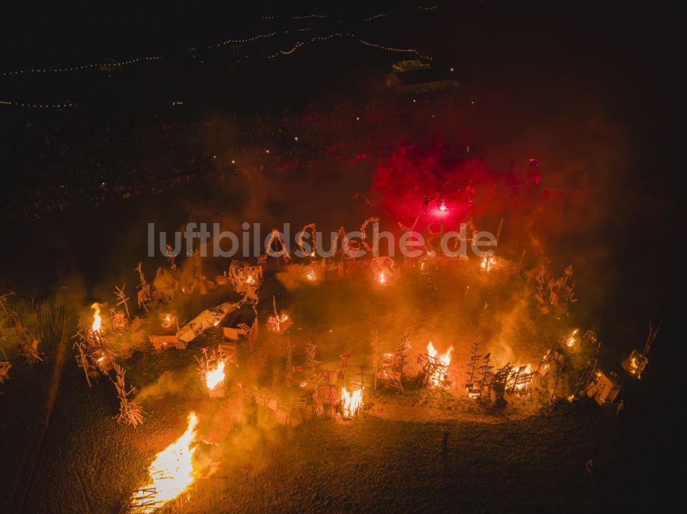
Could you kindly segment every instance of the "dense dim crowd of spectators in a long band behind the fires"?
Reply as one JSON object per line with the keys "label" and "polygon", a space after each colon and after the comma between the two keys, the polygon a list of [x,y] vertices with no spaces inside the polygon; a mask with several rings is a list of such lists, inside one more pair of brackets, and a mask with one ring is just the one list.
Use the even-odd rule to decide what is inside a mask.
{"label": "dense dim crowd of spectators in a long band behind the fires", "polygon": [[6,156],[5,222],[45,218],[109,198],[161,194],[238,174],[383,159],[421,145],[414,127],[451,99],[368,102],[204,121],[71,119],[16,138]]}

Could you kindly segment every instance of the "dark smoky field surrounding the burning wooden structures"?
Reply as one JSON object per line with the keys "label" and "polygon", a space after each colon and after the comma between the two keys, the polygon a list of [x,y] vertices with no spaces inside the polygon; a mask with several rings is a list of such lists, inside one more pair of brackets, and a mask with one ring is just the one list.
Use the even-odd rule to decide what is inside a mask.
{"label": "dark smoky field surrounding the burning wooden structures", "polygon": [[[0,312],[0,361],[12,364],[0,383],[0,513],[126,512],[190,412],[199,418],[196,480],[162,512],[677,510],[679,19],[663,5],[584,2],[8,5],[0,296],[14,292],[3,302],[41,336],[43,361],[21,358],[19,334]],[[10,73],[141,56],[161,58]],[[450,69],[460,88],[397,94],[385,74],[408,59]],[[445,218],[436,214],[442,200]],[[380,287],[365,268],[304,285],[279,282],[269,259],[258,338],[252,351],[238,345],[226,397],[208,397],[196,360],[221,340],[214,328],[185,350],[155,351],[145,338],[120,360],[145,412],[139,428],[113,419],[119,402],[108,379],[87,385],[75,362],[78,319],[91,323],[93,302],[112,307],[122,284],[132,314],[145,318],[134,268],[142,262],[152,282],[168,266],[159,251],[147,256],[149,222],[168,233],[188,222],[236,233],[260,223],[262,237],[289,222],[293,240],[304,224],[354,231],[370,216],[390,230],[416,216],[420,230],[442,219],[447,230],[473,220],[493,232],[503,220],[497,255],[521,259],[524,272],[504,279],[471,258],[437,268],[431,283],[403,268]],[[203,274],[215,280],[229,261],[207,257]],[[578,302],[541,314],[537,273],[559,277],[568,265]],[[273,296],[293,320],[287,334],[265,329]],[[36,308],[57,298],[64,320],[47,330]],[[218,288],[162,308],[188,320],[239,298]],[[636,380],[620,362],[642,349],[649,322],[662,325]],[[598,334],[599,369],[624,381],[616,404],[569,401],[593,353],[581,343],[560,382],[537,377],[504,410],[466,397],[471,341],[497,366],[536,366],[572,329]],[[294,364],[317,344],[320,370],[338,371],[352,353],[346,380],[333,379],[350,388],[358,364],[371,371],[372,331],[383,351],[403,334],[412,347],[405,394],[366,391],[359,419],[330,419],[326,406],[285,427],[246,397],[249,386],[293,393],[287,340]],[[430,340],[440,353],[454,347],[446,391],[417,385],[416,358]]]}

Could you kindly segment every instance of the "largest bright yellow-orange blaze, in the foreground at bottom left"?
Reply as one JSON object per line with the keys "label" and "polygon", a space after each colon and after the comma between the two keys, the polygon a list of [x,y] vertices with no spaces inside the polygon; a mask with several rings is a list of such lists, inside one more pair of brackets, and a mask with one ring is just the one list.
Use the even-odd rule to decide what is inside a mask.
{"label": "largest bright yellow-orange blaze, in the foreground at bottom left", "polygon": [[142,512],[157,511],[157,509],[160,509],[181,495],[193,483],[194,469],[192,458],[196,448],[191,445],[196,436],[197,423],[198,418],[196,414],[191,412],[188,416],[188,428],[186,431],[181,434],[177,441],[174,441],[174,443],[159,452],[153,463],[148,467],[150,482],[148,482],[145,489],[154,489],[155,494],[149,499],[153,500],[153,504],[146,502]]}

